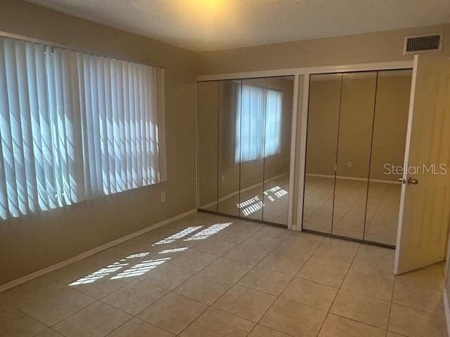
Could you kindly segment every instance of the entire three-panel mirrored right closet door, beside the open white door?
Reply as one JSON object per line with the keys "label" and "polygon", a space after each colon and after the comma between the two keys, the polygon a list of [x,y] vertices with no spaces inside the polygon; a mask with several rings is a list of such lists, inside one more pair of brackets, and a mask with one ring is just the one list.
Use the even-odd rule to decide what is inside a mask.
{"label": "entire three-panel mirrored right closet door, beside the open white door", "polygon": [[303,228],[394,246],[411,70],[310,77]]}

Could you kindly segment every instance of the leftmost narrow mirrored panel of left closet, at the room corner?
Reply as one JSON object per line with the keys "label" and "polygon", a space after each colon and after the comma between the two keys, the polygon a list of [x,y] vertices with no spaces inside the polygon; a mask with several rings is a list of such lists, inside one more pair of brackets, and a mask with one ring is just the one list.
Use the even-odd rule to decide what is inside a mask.
{"label": "leftmost narrow mirrored panel of left closet, at the room corner", "polygon": [[217,211],[217,142],[219,82],[198,82],[198,202]]}

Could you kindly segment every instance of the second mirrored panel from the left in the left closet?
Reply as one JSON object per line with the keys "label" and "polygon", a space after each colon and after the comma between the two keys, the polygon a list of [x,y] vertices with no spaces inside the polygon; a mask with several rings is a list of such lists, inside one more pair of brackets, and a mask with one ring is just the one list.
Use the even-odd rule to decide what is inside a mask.
{"label": "second mirrored panel from the left in the left closet", "polygon": [[231,216],[239,215],[240,91],[240,81],[219,81],[217,211]]}

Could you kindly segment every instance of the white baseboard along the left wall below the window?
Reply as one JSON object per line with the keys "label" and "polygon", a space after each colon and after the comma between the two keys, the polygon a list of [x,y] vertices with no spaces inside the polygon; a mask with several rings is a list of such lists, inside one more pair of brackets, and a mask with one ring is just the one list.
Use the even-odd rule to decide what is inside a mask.
{"label": "white baseboard along the left wall below the window", "polygon": [[156,228],[159,228],[163,225],[167,225],[167,223],[172,223],[175,220],[179,220],[179,219],[189,216],[195,212],[197,212],[197,209],[191,209],[189,211],[179,214],[178,216],[172,216],[172,218],[162,220],[159,223],[150,225],[146,228],[143,228],[142,230],[138,230],[137,232],[125,235],[124,237],[115,239],[114,241],[108,242],[107,244],[102,244],[101,246],[98,246],[94,249],[90,249],[89,251],[85,251],[84,253],[81,253],[77,256],[68,258],[68,260],[64,260],[64,261],[58,262],[54,265],[50,265],[49,267],[45,267],[44,269],[37,270],[35,272],[32,272],[31,274],[25,275],[23,277],[19,277],[18,279],[13,279],[13,281],[10,281],[8,283],[0,285],[0,293],[3,291],[6,291],[8,289],[14,288],[15,286],[20,286],[20,284],[24,284],[25,282],[31,281],[32,279],[37,279],[38,277],[46,275],[49,272],[54,272],[55,270],[58,270],[62,267],[70,265],[71,263],[77,262],[79,260],[84,260],[85,258],[89,258],[89,256],[93,256],[96,253],[100,253],[101,251],[104,251],[105,249],[109,249],[113,246],[116,246],[117,244],[126,242],[129,239],[134,239],[135,237],[139,237],[139,235],[146,234],[147,232],[155,230]]}

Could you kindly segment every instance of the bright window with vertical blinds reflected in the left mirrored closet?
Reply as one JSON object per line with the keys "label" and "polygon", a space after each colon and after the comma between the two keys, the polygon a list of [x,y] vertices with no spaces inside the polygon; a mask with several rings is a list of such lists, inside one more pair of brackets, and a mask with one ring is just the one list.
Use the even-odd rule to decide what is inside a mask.
{"label": "bright window with vertical blinds reflected in the left mirrored closet", "polygon": [[283,93],[243,85],[238,100],[235,162],[279,153]]}

